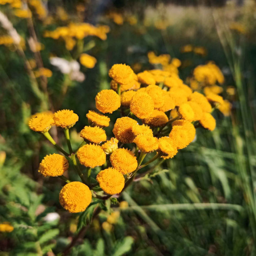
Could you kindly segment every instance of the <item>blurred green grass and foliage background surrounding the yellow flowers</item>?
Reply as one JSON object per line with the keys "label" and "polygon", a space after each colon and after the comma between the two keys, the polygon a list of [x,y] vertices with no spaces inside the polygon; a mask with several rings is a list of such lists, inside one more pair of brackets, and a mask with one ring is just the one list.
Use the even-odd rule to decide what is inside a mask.
{"label": "blurred green grass and foliage background surrounding the yellow flowers", "polygon": [[[12,7],[3,3],[0,0],[0,11],[26,41],[26,58],[34,58],[27,20],[13,15]],[[68,254],[255,255],[255,2],[42,4],[53,18],[46,22],[33,15],[35,33],[44,45],[42,62],[53,72],[47,95],[38,93],[44,90],[37,90],[29,78],[22,53],[0,45],[0,222],[14,227],[10,233],[0,232],[0,255],[62,255],[77,234],[79,214],[69,214],[58,202],[64,182],[37,172],[41,159],[55,151],[29,130],[30,115],[46,109],[74,110],[79,122],[71,140],[78,146],[78,132],[87,124],[88,110],[95,109],[95,95],[110,87],[108,70],[114,63],[126,63],[136,73],[152,68],[149,51],[179,58],[184,81],[196,66],[215,61],[225,75],[224,89],[234,89],[224,95],[232,103],[231,115],[216,112],[214,132],[197,129],[194,142],[122,194],[119,201],[129,206],[113,206],[120,216],[110,218],[102,212]],[[119,24],[115,22],[113,13],[122,23],[120,17]],[[106,40],[84,38],[84,49],[97,63],[93,69],[81,66],[86,75],[82,82],[70,80],[50,63],[50,56],[77,59],[78,47],[68,51],[63,41],[44,37],[44,31],[71,22],[110,27]],[[1,41],[8,33],[0,23]],[[181,47],[188,44],[204,47],[207,54],[182,53]],[[54,135],[61,144],[62,134],[56,130]]]}

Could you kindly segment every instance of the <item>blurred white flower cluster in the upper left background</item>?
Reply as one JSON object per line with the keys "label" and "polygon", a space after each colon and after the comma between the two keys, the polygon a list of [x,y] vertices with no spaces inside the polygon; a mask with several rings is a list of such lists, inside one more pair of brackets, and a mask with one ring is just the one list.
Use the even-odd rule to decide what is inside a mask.
{"label": "blurred white flower cluster in the upper left background", "polygon": [[59,57],[50,58],[51,65],[57,67],[61,73],[69,74],[71,80],[82,82],[86,76],[80,72],[80,64],[76,60],[68,61]]}

